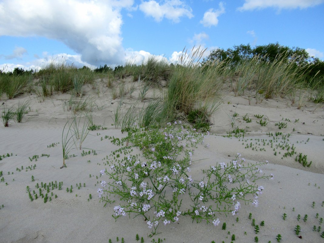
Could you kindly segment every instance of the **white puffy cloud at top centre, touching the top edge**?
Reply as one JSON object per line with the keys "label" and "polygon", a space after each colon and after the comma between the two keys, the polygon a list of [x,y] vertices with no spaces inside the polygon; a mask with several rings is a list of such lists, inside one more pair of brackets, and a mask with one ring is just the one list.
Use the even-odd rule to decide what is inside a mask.
{"label": "white puffy cloud at top centre, touching the top edge", "polygon": [[139,9],[147,16],[151,16],[156,22],[160,22],[164,17],[175,23],[180,21],[180,17],[192,18],[192,9],[179,0],[165,0],[159,4],[154,0],[142,2]]}

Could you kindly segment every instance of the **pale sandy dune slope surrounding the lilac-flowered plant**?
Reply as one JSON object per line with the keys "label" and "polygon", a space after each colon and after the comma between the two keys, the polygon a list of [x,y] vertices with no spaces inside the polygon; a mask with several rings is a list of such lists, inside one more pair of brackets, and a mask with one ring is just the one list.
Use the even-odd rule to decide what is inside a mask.
{"label": "pale sandy dune slope surrounding the lilac-flowered plant", "polygon": [[[97,188],[100,186],[98,182],[100,184],[101,178],[96,179],[96,176],[104,169],[103,158],[117,149],[104,137],[125,135],[121,134],[120,129],[111,126],[113,111],[120,99],[112,100],[110,90],[104,86],[100,90],[99,97],[90,88],[86,90],[86,95],[92,96],[97,104],[93,111],[94,123],[108,129],[90,132],[84,142],[84,147],[95,149],[98,155],[81,156],[82,150],[72,150],[70,154],[75,154],[76,157],[69,158],[66,161],[67,168],[63,169],[60,169],[62,130],[67,117],[72,116],[70,111],[63,109],[63,104],[69,95],[55,95],[42,102],[38,102],[35,95],[1,100],[1,103],[5,102],[8,106],[18,101],[30,100],[31,110],[26,116],[27,122],[0,127],[0,154],[13,153],[13,156],[0,161],[0,171],[3,171],[5,182],[8,183],[8,185],[5,185],[5,182],[0,183],[0,205],[4,204],[0,210],[0,242],[108,242],[109,238],[113,240],[112,242],[116,242],[117,236],[120,241],[121,237],[124,237],[125,242],[136,242],[136,233],[143,236],[145,242],[151,242],[152,239],[147,237],[150,231],[142,218],[124,217],[115,222],[111,217],[114,205],[103,207],[103,203],[98,201]],[[138,103],[139,107],[147,103],[154,94],[157,96],[158,92],[158,89],[151,90],[148,98]],[[137,97],[138,90],[133,93],[132,98],[126,95],[122,99],[123,113],[138,100]],[[274,179],[260,181],[265,190],[259,198],[259,207],[242,205],[238,222],[235,221],[236,216],[219,215],[221,222],[227,224],[226,230],[222,230],[221,225],[215,227],[211,224],[206,225],[205,222],[191,223],[190,218],[182,217],[179,224],[159,226],[162,233],[153,238],[165,238],[163,242],[209,243],[215,240],[218,243],[223,240],[230,242],[230,236],[235,234],[235,242],[254,242],[255,236],[259,237],[259,242],[269,240],[276,242],[276,235],[281,234],[283,238],[281,242],[324,242],[320,237],[324,223],[320,232],[312,231],[313,225],[320,226],[315,214],[318,213],[319,218],[324,218],[324,207],[321,206],[324,201],[323,107],[305,101],[303,108],[298,110],[295,105],[290,105],[289,99],[282,98],[263,100],[258,104],[255,104],[255,98],[251,98],[249,105],[247,97],[235,97],[229,92],[224,94],[223,100],[219,110],[213,115],[212,135],[205,139],[205,144],[210,144],[210,147],[200,145],[195,149],[193,155],[195,162],[191,166],[193,178],[201,175],[201,169],[209,168],[216,162],[229,162],[239,152],[248,162],[268,160],[270,164],[262,167],[262,170],[265,174],[272,173]],[[237,117],[233,117],[235,112],[238,113]],[[250,123],[243,121],[246,114],[252,119]],[[260,126],[256,122],[260,119],[255,118],[255,114],[264,115],[268,124]],[[287,122],[287,127],[279,130],[275,123],[282,119],[283,122]],[[248,131],[244,139],[222,136],[226,136],[226,132],[236,127]],[[282,155],[275,156],[273,148],[267,145],[272,137],[266,135],[275,132],[290,133],[289,141],[286,143],[294,144],[297,154],[307,155],[307,160],[312,161],[311,166],[303,167],[295,162],[295,157],[282,159]],[[282,135],[274,145],[284,141],[280,137]],[[267,143],[263,145],[255,139],[267,139]],[[246,144],[251,142],[254,149],[245,148]],[[60,144],[47,147],[52,143]],[[264,148],[265,151],[260,151],[260,148]],[[276,151],[279,153],[280,150]],[[41,154],[49,154],[50,157],[42,157]],[[33,155],[39,155],[39,159],[30,162],[29,157]],[[36,168],[33,170],[24,169],[20,172],[16,170],[21,169],[21,166],[26,168],[34,164]],[[14,173],[11,174],[12,172]],[[31,181],[32,175],[35,177],[34,182]],[[89,175],[93,176],[90,178]],[[41,199],[33,202],[29,200],[26,193],[27,185],[34,190],[37,182],[48,183],[55,180],[64,182],[63,190],[53,190],[57,198],[46,204]],[[75,187],[76,183],[86,183],[86,187],[78,190]],[[74,187],[73,192],[66,192],[66,187],[71,185]],[[90,193],[93,199],[88,201]],[[312,202],[315,202],[314,208]],[[292,210],[293,207],[295,211]],[[258,235],[250,225],[249,213],[252,213],[256,223],[265,221],[265,226],[261,227]],[[286,220],[282,218],[283,213],[287,214]],[[301,214],[302,218],[308,214],[307,222],[303,222],[302,219],[298,222],[296,219],[298,214]],[[301,226],[302,239],[295,236],[294,227],[297,224]]]}

